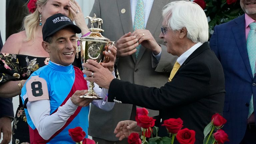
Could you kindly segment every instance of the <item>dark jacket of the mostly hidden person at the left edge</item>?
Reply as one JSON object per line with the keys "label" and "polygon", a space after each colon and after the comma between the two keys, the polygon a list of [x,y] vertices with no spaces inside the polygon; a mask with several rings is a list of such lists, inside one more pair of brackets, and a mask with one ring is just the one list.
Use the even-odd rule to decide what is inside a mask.
{"label": "dark jacket of the mostly hidden person at the left edge", "polygon": [[[3,47],[3,41],[0,32],[0,51]],[[0,98],[0,118],[1,117],[14,117],[12,98]]]}

